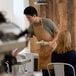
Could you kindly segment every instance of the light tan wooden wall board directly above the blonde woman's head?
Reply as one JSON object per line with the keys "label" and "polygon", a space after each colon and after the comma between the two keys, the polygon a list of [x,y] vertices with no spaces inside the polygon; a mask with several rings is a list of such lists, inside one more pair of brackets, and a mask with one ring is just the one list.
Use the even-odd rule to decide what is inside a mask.
{"label": "light tan wooden wall board directly above the blonde woman's head", "polygon": [[67,29],[67,14],[66,14],[66,11],[67,11],[67,8],[66,8],[66,0],[62,0],[62,1],[56,1],[57,3],[57,9],[58,9],[58,13],[59,13],[59,27],[60,27],[60,30],[65,30]]}

